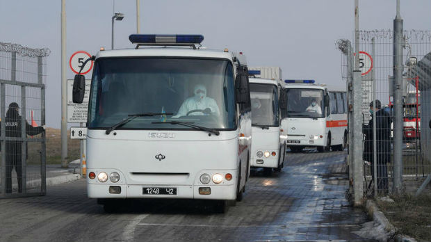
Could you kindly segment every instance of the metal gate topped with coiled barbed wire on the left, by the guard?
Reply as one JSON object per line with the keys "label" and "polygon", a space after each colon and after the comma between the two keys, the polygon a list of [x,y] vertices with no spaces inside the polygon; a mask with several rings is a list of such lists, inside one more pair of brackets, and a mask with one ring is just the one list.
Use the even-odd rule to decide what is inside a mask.
{"label": "metal gate topped with coiled barbed wire on the left, by the guard", "polygon": [[49,49],[0,42],[0,197],[46,193]]}

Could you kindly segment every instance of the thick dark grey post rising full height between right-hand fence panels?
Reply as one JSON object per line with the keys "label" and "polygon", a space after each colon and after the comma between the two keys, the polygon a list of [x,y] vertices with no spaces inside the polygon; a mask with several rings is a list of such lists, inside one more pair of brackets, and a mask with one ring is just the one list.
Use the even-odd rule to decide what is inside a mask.
{"label": "thick dark grey post rising full height between right-hand fence panels", "polygon": [[402,192],[402,18],[400,0],[397,1],[397,14],[393,19],[393,193]]}

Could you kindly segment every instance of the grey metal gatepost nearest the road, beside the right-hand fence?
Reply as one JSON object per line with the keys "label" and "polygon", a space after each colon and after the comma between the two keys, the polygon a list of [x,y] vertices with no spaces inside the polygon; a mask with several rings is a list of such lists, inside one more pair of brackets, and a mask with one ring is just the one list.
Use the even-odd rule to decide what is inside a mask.
{"label": "grey metal gatepost nearest the road, beside the right-hand fence", "polygon": [[355,177],[354,186],[354,205],[361,206],[364,197],[364,161],[362,160],[363,137],[362,134],[362,83],[361,71],[353,71],[353,166]]}

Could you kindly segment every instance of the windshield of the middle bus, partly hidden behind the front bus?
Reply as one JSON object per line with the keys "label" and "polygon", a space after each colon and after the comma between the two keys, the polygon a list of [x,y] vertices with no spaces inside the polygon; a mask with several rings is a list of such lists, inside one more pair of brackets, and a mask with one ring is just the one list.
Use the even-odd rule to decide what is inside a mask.
{"label": "windshield of the middle bus, partly hidden behind the front bus", "polygon": [[277,86],[250,83],[253,126],[279,126]]}

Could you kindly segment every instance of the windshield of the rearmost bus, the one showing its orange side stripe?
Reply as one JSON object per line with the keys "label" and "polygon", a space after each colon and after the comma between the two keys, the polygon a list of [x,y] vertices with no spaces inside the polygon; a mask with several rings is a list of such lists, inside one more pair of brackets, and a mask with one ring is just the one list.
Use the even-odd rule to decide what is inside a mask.
{"label": "windshield of the rearmost bus, the one showing its orange side stripe", "polygon": [[287,88],[288,118],[324,118],[323,90]]}

